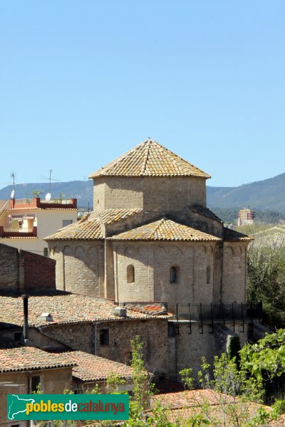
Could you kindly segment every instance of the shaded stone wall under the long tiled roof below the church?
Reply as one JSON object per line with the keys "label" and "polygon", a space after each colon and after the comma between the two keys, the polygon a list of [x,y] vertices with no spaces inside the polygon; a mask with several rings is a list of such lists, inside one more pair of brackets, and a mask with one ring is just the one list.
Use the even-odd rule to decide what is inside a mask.
{"label": "shaded stone wall under the long tiled roof below the church", "polygon": [[[75,307],[76,309],[76,307]],[[108,344],[100,344],[100,331],[108,330]],[[104,321],[96,323],[78,323],[76,325],[56,325],[41,327],[29,332],[33,345],[43,349],[52,346],[71,347],[115,362],[130,362],[130,340],[139,335],[144,343],[147,370],[155,376],[167,376],[167,320],[131,319]],[[96,337],[96,341],[95,341]]]}

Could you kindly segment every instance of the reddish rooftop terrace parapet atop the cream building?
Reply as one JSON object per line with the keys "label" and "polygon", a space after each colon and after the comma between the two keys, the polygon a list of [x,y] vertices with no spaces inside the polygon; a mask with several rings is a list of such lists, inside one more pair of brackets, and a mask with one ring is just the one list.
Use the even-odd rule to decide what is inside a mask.
{"label": "reddish rooftop terrace parapet atop the cream building", "polygon": [[9,210],[16,209],[77,209],[77,199],[51,199],[45,200],[40,197],[33,199],[10,199]]}

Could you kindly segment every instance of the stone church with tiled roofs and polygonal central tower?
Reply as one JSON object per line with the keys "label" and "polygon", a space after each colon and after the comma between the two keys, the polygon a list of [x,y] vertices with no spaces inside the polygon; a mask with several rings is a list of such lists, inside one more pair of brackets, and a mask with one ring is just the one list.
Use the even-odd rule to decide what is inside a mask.
{"label": "stone church with tiled roofs and polygonal central tower", "polygon": [[209,174],[147,139],[89,178],[93,211],[46,238],[59,289],[118,303],[246,301],[251,239],[207,209]]}

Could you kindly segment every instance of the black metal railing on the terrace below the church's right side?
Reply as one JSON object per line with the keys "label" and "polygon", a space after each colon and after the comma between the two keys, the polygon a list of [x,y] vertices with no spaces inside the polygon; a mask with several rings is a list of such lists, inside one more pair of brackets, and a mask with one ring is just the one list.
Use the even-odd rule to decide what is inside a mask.
{"label": "black metal railing on the terrace below the church's right side", "polygon": [[167,312],[176,321],[203,322],[222,320],[261,319],[262,302],[243,304],[242,302],[210,304],[167,304]]}

